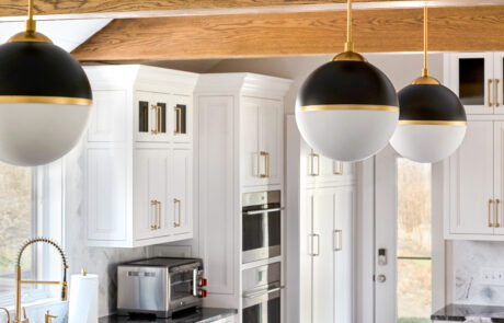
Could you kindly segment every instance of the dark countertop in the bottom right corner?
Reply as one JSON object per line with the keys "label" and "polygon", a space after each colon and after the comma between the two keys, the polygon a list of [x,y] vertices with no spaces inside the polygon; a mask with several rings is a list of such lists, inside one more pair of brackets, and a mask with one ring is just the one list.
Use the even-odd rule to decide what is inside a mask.
{"label": "dark countertop in the bottom right corner", "polygon": [[504,307],[449,304],[431,315],[431,320],[456,322],[465,322],[471,318],[504,323]]}

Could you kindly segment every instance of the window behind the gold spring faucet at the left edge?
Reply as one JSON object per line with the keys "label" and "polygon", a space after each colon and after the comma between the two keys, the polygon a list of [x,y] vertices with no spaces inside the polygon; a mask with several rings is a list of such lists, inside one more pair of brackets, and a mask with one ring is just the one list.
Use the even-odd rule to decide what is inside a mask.
{"label": "window behind the gold spring faucet at the left edge", "polygon": [[[14,267],[20,246],[37,235],[62,241],[62,161],[39,168],[0,162],[0,307],[13,305]],[[48,261],[39,262],[41,258]],[[61,266],[59,256],[50,247],[33,245],[23,253],[22,277],[53,278],[51,272],[60,273],[51,270],[53,266]],[[23,301],[53,297],[53,289],[25,285]]]}

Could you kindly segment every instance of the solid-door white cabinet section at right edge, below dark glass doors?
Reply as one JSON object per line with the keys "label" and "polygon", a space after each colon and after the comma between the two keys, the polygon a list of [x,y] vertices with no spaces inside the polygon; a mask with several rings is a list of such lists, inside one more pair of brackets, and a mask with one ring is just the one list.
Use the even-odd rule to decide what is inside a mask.
{"label": "solid-door white cabinet section at right edge, below dark glass doors", "polygon": [[445,238],[504,240],[504,118],[469,120],[466,139],[445,161]]}

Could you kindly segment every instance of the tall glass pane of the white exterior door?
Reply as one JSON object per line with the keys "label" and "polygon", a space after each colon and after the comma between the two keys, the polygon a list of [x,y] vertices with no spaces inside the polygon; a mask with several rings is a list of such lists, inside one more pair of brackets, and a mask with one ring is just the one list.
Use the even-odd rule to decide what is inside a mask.
{"label": "tall glass pane of the white exterior door", "polygon": [[398,159],[398,322],[431,322],[431,164]]}

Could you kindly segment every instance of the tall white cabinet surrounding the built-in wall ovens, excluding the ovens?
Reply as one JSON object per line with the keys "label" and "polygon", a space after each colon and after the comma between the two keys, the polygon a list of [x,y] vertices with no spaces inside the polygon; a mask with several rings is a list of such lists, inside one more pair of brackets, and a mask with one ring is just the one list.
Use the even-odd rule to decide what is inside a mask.
{"label": "tall white cabinet surrounding the built-in wall ovens, excluding the ovens", "polygon": [[202,74],[195,91],[195,255],[203,258],[208,278],[205,305],[239,309],[238,321],[241,197],[283,189],[284,95],[289,86],[285,79],[225,73]]}

